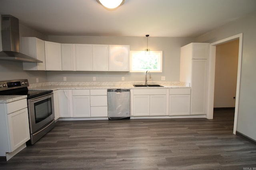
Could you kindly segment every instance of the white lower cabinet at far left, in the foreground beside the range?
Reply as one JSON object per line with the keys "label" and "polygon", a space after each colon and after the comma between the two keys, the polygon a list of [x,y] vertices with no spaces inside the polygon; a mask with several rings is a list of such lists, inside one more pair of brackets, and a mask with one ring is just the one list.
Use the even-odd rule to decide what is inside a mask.
{"label": "white lower cabinet at far left, in the foreground beside the range", "polygon": [[30,139],[27,99],[0,103],[0,113],[0,156],[8,160]]}

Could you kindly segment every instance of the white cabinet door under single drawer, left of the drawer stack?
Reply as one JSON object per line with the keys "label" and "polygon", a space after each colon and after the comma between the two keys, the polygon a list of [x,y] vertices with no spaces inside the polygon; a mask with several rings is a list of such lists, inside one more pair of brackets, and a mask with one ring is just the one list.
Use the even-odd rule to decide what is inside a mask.
{"label": "white cabinet door under single drawer, left of the drawer stack", "polygon": [[73,96],[74,117],[90,117],[90,96]]}

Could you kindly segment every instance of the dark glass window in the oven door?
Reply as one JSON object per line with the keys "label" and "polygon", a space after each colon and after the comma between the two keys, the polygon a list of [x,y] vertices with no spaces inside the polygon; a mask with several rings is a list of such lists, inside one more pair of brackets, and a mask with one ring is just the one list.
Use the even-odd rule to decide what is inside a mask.
{"label": "dark glass window in the oven door", "polygon": [[36,102],[34,104],[35,121],[36,123],[46,119],[52,114],[52,100],[51,98]]}

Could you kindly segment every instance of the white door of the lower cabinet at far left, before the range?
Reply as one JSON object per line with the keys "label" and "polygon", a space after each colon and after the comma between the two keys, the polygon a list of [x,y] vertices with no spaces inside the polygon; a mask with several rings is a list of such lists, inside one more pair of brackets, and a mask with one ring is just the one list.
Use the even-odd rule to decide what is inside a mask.
{"label": "white door of the lower cabinet at far left, before the range", "polygon": [[30,139],[28,108],[8,114],[11,152]]}

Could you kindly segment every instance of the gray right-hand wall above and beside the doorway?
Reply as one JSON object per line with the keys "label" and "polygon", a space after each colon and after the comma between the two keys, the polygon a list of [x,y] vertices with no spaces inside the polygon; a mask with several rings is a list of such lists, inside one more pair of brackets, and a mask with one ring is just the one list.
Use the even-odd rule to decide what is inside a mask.
{"label": "gray right-hand wall above and beside the doorway", "polygon": [[256,140],[256,12],[196,38],[215,42],[243,33],[237,131]]}

